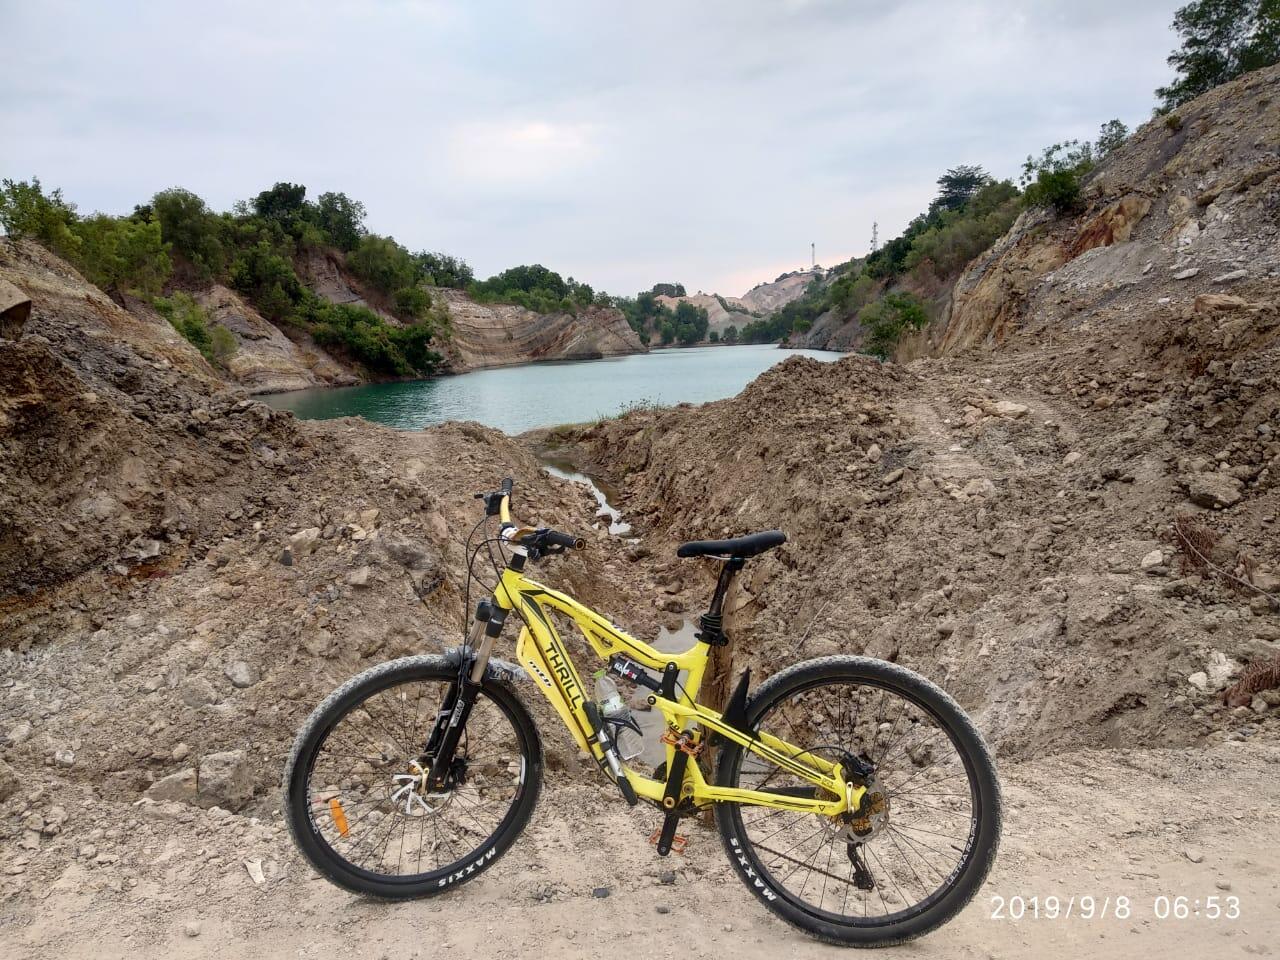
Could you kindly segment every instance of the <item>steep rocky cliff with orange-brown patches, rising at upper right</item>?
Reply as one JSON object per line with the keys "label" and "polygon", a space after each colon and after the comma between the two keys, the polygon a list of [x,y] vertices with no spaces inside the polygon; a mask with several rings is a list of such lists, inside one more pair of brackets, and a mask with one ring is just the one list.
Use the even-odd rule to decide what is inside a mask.
{"label": "steep rocky cliff with orange-brown patches, rising at upper right", "polygon": [[955,353],[1204,296],[1275,301],[1277,145],[1280,67],[1151,120],[1094,172],[1079,215],[1028,211],[970,264],[924,346]]}

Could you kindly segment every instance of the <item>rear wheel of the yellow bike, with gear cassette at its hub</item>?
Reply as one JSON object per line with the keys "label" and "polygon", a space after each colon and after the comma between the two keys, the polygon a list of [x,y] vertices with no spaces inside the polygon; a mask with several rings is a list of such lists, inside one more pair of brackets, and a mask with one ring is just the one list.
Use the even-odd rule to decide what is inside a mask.
{"label": "rear wheel of the yellow bike, with gear cassette at its hub", "polygon": [[[826,657],[771,677],[746,719],[860,768],[867,786],[859,812],[835,818],[717,805],[730,861],[773,913],[827,942],[887,946],[936,929],[978,892],[1000,844],[1000,785],[982,736],[937,686],[883,660]],[[721,753],[717,782],[818,791],[737,744]]]}

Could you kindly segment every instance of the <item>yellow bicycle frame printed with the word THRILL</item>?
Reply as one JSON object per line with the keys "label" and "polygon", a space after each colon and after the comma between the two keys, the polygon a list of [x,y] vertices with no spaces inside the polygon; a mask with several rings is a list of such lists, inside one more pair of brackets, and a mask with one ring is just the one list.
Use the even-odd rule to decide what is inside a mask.
{"label": "yellow bicycle frame printed with the word THRILL", "polygon": [[[570,617],[603,660],[608,660],[613,654],[623,654],[650,669],[662,672],[669,663],[686,672],[687,678],[682,685],[681,700],[671,700],[657,692],[650,696],[650,703],[662,712],[668,728],[686,731],[695,737],[703,737],[699,727],[718,733],[727,740],[741,744],[753,754],[788,773],[820,787],[829,796],[838,797],[819,800],[780,792],[721,787],[707,782],[699,764],[689,763],[685,765],[685,782],[680,786],[681,801],[692,801],[698,806],[710,803],[751,804],[824,817],[836,817],[847,810],[858,809],[867,788],[846,783],[840,764],[829,763],[764,731],[755,733],[740,731],[724,723],[722,716],[716,710],[696,703],[710,655],[709,644],[699,640],[684,653],[663,653],[628,636],[573,598],[529,580],[524,572],[511,567],[503,571],[493,599],[504,611],[515,611],[520,614],[524,626],[516,641],[517,662],[532,676],[535,686],[550,701],[577,745],[591,754],[602,767],[604,767],[604,750],[584,710],[584,704],[590,699],[589,694],[554,623],[547,616],[547,608],[559,611]],[[704,740],[699,740],[699,742],[704,742]],[[668,742],[666,749],[667,769],[675,771],[677,764],[673,763],[673,759],[677,748]],[[637,796],[662,804],[666,790],[663,782],[645,777],[626,765],[623,765],[623,773]]]}

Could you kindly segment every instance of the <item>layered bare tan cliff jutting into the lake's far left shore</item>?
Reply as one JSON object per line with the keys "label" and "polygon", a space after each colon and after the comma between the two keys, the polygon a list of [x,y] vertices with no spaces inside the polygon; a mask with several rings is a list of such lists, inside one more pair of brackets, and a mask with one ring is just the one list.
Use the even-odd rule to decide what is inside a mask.
{"label": "layered bare tan cliff jutting into the lake's far left shore", "polygon": [[596,360],[643,353],[640,343],[613,307],[579,314],[535,314],[511,303],[477,303],[461,291],[435,289],[449,312],[449,355],[454,372],[515,366],[543,360]]}

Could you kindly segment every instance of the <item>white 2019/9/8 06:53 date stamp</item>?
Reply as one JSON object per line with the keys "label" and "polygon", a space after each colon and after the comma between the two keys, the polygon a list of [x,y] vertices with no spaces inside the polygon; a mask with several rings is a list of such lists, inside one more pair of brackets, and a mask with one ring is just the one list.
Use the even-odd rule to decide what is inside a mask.
{"label": "white 2019/9/8 06:53 date stamp", "polygon": [[1060,896],[1001,896],[991,897],[992,920],[1128,920],[1155,918],[1157,920],[1238,920],[1240,899],[1231,893],[1204,896],[1161,893],[1155,897],[1125,895],[1074,893]]}

